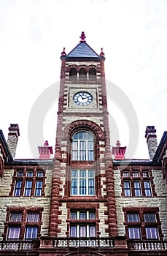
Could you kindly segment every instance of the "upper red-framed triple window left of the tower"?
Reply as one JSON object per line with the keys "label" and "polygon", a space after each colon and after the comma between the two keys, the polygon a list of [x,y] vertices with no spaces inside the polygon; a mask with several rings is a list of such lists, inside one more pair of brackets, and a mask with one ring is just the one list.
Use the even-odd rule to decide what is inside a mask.
{"label": "upper red-framed triple window left of the tower", "polygon": [[42,196],[44,195],[44,170],[14,170],[10,196]]}

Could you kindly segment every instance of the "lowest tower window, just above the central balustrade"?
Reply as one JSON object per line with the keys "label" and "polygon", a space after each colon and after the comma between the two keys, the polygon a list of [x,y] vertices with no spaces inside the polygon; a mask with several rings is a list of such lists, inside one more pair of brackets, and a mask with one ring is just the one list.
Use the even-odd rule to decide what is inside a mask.
{"label": "lowest tower window, just above the central balustrade", "polygon": [[[71,237],[95,237],[96,236],[96,223],[89,222],[91,219],[96,219],[95,211],[71,211],[70,236]],[[78,221],[82,220],[81,223]],[[83,223],[83,220],[86,222]]]}

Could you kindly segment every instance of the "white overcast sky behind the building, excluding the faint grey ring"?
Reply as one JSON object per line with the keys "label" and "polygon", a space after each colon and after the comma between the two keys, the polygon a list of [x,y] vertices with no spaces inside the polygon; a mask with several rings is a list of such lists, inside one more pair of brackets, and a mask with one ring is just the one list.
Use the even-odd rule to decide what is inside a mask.
{"label": "white overcast sky behind the building, excluding the faint grey ring", "polygon": [[[139,146],[134,157],[148,159],[147,125],[155,125],[158,143],[167,127],[166,13],[166,0],[0,0],[0,129],[7,138],[9,124],[19,124],[16,158],[32,158],[31,109],[42,91],[58,83],[63,47],[69,53],[85,31],[98,54],[104,48],[106,79],[127,95],[136,111]],[[46,113],[41,141],[49,140],[53,148],[56,100]],[[128,146],[131,135],[123,111],[111,102],[109,114],[121,145]]]}

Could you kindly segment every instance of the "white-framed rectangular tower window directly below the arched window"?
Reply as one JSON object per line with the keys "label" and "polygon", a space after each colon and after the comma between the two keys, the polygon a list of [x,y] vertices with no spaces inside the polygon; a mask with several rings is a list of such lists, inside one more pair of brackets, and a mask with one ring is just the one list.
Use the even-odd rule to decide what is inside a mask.
{"label": "white-framed rectangular tower window directly below the arched window", "polygon": [[71,195],[95,195],[94,170],[71,170]]}

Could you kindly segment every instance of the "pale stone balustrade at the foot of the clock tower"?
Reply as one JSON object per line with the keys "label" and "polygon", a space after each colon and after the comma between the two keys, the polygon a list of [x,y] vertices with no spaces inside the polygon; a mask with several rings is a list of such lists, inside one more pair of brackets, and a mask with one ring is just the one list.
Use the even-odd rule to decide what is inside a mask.
{"label": "pale stone balustrade at the foot of the clock tower", "polygon": [[114,240],[111,238],[55,238],[53,240],[55,247],[80,247],[80,246],[94,246],[94,247],[114,247]]}

